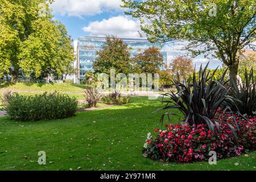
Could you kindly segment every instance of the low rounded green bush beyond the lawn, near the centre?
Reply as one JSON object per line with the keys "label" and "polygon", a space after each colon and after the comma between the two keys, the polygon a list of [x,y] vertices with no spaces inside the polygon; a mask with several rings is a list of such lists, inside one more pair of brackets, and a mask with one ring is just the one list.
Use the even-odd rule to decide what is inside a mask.
{"label": "low rounded green bush beyond the lawn, near the centre", "polygon": [[128,104],[131,101],[131,97],[122,96],[120,92],[113,92],[102,97],[102,101],[106,104]]}

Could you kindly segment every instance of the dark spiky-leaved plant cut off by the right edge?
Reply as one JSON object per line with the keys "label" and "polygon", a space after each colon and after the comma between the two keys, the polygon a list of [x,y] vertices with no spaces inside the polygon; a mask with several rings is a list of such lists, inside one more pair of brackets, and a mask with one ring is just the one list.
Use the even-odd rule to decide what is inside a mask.
{"label": "dark spiky-leaved plant cut off by the right edge", "polygon": [[238,111],[241,114],[253,115],[256,111],[256,80],[253,69],[248,73],[245,71],[242,83],[232,82],[231,95],[235,98],[234,104],[230,104],[232,111]]}

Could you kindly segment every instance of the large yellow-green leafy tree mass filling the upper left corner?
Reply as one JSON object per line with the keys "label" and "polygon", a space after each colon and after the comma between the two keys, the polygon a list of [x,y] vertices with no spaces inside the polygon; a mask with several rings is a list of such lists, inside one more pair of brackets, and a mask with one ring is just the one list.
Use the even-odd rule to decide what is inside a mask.
{"label": "large yellow-green leafy tree mass filling the upper left corner", "polygon": [[52,20],[47,2],[52,1],[1,0],[0,78],[59,78],[70,71],[71,40],[64,25]]}

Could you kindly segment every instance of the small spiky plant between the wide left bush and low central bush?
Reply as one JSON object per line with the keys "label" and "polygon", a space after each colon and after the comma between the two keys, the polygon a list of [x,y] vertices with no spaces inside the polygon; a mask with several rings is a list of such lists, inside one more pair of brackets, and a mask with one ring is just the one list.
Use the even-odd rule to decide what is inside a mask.
{"label": "small spiky plant between the wide left bush and low central bush", "polygon": [[101,94],[94,87],[85,89],[85,101],[89,107],[96,107],[98,101],[101,100]]}

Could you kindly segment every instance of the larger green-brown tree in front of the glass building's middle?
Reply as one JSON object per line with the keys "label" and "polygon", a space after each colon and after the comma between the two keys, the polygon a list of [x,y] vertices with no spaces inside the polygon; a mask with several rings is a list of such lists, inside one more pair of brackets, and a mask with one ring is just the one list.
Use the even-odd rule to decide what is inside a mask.
{"label": "larger green-brown tree in front of the glass building's middle", "polygon": [[106,43],[100,51],[97,51],[93,69],[95,73],[108,75],[110,75],[110,69],[115,69],[115,73],[130,73],[131,59],[127,45],[115,36],[107,36]]}

